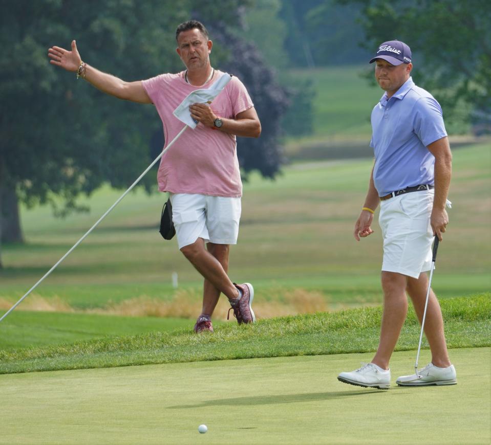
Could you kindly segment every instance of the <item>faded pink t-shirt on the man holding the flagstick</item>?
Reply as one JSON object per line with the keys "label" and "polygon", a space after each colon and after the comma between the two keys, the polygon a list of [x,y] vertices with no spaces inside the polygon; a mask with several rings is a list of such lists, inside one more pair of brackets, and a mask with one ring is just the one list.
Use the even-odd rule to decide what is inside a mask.
{"label": "faded pink t-shirt on the man holding the flagstick", "polygon": [[[217,74],[223,73],[216,70],[214,79],[200,88],[211,86]],[[189,93],[200,88],[187,83],[184,72],[161,74],[142,83],[162,119],[167,145],[184,126],[172,112]],[[232,77],[210,106],[218,117],[235,119],[254,105],[244,84]],[[162,192],[242,196],[236,137],[202,123],[195,129],[187,128],[163,155],[157,181]]]}

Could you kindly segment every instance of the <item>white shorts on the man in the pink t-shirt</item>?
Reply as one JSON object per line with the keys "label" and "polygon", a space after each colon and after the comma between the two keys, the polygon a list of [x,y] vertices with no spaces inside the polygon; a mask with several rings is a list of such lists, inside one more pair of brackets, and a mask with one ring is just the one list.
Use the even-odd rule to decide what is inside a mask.
{"label": "white shorts on the man in the pink t-shirt", "polygon": [[179,249],[198,238],[215,244],[237,244],[241,198],[170,193]]}

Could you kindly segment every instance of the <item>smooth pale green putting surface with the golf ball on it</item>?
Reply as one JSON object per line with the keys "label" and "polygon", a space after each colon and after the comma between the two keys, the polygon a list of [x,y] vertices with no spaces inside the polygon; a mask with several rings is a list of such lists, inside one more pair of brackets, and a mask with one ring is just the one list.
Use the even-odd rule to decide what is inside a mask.
{"label": "smooth pale green putting surface with the golf ball on it", "polygon": [[450,353],[458,385],[387,391],[336,380],[370,353],[1,375],[0,443],[489,443],[491,348]]}

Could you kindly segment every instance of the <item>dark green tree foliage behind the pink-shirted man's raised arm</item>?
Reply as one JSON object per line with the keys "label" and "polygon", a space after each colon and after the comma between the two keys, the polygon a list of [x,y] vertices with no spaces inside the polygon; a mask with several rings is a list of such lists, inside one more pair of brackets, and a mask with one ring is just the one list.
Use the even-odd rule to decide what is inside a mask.
{"label": "dark green tree foliage behind the pink-shirted man's raised arm", "polygon": [[[117,101],[56,70],[48,63],[49,47],[69,46],[75,38],[83,60],[125,80],[177,72],[182,69],[175,56],[179,23],[202,11],[217,26],[240,27],[241,8],[248,4],[224,0],[216,8],[211,0],[0,0],[2,238],[11,235],[2,227],[12,222],[19,201],[49,203],[62,216],[82,210],[76,203],[80,193],[90,195],[103,183],[126,188],[153,159],[151,141],[162,133],[154,107]],[[227,56],[227,44],[217,44],[218,65]],[[267,125],[269,116],[262,118]],[[252,162],[247,168],[258,165]],[[268,175],[277,171],[271,165],[260,169]],[[147,191],[154,183],[151,174],[142,180]]]}

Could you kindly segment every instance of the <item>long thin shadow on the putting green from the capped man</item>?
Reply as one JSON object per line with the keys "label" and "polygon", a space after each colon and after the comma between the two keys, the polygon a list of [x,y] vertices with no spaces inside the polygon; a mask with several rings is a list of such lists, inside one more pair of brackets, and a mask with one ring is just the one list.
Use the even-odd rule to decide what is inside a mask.
{"label": "long thin shadow on the putting green from the capped man", "polygon": [[385,389],[366,388],[355,391],[329,391],[329,392],[312,392],[304,394],[289,395],[264,395],[259,397],[232,397],[220,398],[215,400],[203,400],[196,405],[176,405],[167,407],[168,409],[176,408],[204,408],[209,406],[244,406],[244,405],[276,405],[286,403],[314,402],[315,400],[329,400],[335,398],[346,398],[357,395],[369,395],[380,392],[387,392]]}

